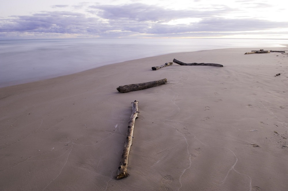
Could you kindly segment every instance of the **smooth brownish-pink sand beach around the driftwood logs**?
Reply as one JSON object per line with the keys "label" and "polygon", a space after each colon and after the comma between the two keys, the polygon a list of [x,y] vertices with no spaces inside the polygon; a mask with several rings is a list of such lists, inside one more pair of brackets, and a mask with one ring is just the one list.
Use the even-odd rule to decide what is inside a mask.
{"label": "smooth brownish-pink sand beach around the driftwood logs", "polygon": [[[288,56],[252,49],[288,51],[173,53],[0,88],[0,190],[287,190]],[[151,70],[173,58],[224,67]],[[129,176],[116,180],[134,100]]]}

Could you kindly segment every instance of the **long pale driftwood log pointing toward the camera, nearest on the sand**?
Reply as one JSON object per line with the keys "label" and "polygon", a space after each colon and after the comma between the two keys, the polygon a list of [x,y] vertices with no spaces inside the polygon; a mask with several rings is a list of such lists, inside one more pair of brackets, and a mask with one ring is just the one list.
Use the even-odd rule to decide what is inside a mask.
{"label": "long pale driftwood log pointing toward the camera, nearest on the sand", "polygon": [[137,115],[139,113],[138,103],[139,103],[139,101],[137,101],[137,100],[132,102],[132,115],[131,115],[129,123],[128,123],[128,132],[127,132],[126,140],[124,142],[124,148],[123,148],[123,153],[122,153],[122,157],[120,160],[120,165],[118,167],[118,175],[116,176],[117,179],[121,179],[121,178],[127,177],[129,175],[127,172],[128,156],[129,156],[130,147],[132,145],[135,119],[138,118]]}

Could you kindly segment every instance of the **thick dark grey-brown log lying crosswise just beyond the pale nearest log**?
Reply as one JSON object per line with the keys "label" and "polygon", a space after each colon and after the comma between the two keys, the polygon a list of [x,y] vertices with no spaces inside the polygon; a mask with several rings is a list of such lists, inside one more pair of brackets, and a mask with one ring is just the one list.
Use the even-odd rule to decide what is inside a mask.
{"label": "thick dark grey-brown log lying crosswise just beyond the pale nearest log", "polygon": [[125,86],[119,86],[116,88],[119,92],[126,93],[126,92],[132,92],[132,91],[137,91],[137,90],[144,90],[147,88],[152,88],[154,86],[160,86],[163,85],[167,82],[167,79],[162,79],[162,80],[157,80],[157,81],[152,81],[152,82],[144,82],[140,84],[129,84]]}

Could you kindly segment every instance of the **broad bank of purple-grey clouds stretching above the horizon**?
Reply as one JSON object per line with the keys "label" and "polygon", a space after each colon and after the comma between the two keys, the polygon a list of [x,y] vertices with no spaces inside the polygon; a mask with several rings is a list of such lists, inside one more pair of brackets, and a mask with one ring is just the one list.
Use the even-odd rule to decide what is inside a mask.
{"label": "broad bank of purple-grey clouds stretching above the horizon", "polygon": [[[174,10],[143,3],[93,6],[83,4],[83,6],[86,13],[43,11],[30,16],[12,16],[10,19],[2,19],[0,38],[3,39],[5,36],[11,38],[11,35],[18,37],[26,35],[31,38],[33,34],[103,38],[211,36],[288,26],[288,22],[241,17],[225,18],[225,15],[237,9],[222,5],[215,6],[213,10]],[[54,7],[62,8],[66,5],[54,5]],[[171,24],[171,21],[186,18],[196,18],[196,20],[190,23]]]}

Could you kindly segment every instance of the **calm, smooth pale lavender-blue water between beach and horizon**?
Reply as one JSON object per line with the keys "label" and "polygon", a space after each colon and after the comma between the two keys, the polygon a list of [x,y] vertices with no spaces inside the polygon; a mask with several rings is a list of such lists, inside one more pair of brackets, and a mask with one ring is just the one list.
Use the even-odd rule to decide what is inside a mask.
{"label": "calm, smooth pale lavender-blue water between beach and horizon", "polygon": [[238,47],[279,47],[272,39],[0,40],[0,87],[167,53]]}

